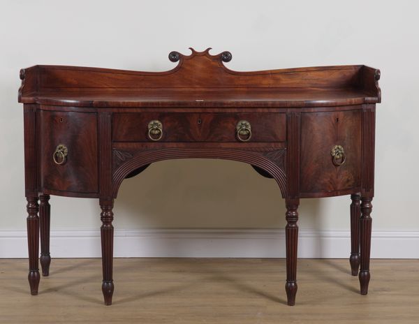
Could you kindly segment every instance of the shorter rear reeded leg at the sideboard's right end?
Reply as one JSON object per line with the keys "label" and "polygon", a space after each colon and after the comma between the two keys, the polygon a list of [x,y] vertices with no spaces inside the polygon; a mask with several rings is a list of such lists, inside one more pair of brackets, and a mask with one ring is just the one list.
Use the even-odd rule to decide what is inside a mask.
{"label": "shorter rear reeded leg at the sideboard's right end", "polygon": [[359,193],[351,195],[351,256],[349,263],[351,263],[351,272],[353,276],[358,276],[360,269],[360,200]]}

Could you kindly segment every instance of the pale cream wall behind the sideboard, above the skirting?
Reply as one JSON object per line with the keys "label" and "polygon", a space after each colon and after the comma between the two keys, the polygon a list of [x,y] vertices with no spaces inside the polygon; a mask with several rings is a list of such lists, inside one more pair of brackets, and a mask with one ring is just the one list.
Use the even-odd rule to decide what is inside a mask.
{"label": "pale cream wall behind the sideboard, above the skirting", "polygon": [[[407,235],[419,242],[418,10],[417,1],[0,1],[0,256],[22,256],[26,249],[15,250],[17,237],[25,244],[26,226],[20,68],[65,64],[163,71],[173,67],[170,51],[188,54],[191,46],[213,47],[213,54],[229,50],[228,67],[239,71],[335,64],[380,68],[373,230],[388,233],[390,241]],[[97,233],[96,200],[52,197],[51,202],[55,236],[64,233],[60,230],[69,236],[82,229]],[[348,204],[348,197],[302,200],[302,233],[320,233],[317,237],[326,230],[339,236],[346,230],[347,241]],[[277,185],[249,165],[163,161],[122,184],[114,224],[121,233],[128,228],[278,229],[284,227],[284,212]],[[52,244],[60,249],[58,239]],[[60,255],[77,254],[66,250],[67,244]],[[409,244],[400,239],[388,254],[374,242],[373,249],[379,250],[376,256],[394,257],[400,255],[397,246],[406,247],[407,256],[417,257],[417,246]],[[233,249],[228,242],[222,246]],[[346,256],[348,249],[339,253]]]}

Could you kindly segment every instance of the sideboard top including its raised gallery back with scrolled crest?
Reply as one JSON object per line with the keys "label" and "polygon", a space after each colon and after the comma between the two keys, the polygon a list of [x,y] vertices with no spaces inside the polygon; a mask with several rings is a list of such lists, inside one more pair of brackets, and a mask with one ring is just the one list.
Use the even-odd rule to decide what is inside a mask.
{"label": "sideboard top including its raised gallery back with scrolled crest", "polygon": [[238,72],[230,52],[170,52],[170,71],[78,66],[20,71],[20,103],[75,107],[318,107],[381,102],[380,71],[363,65]]}

